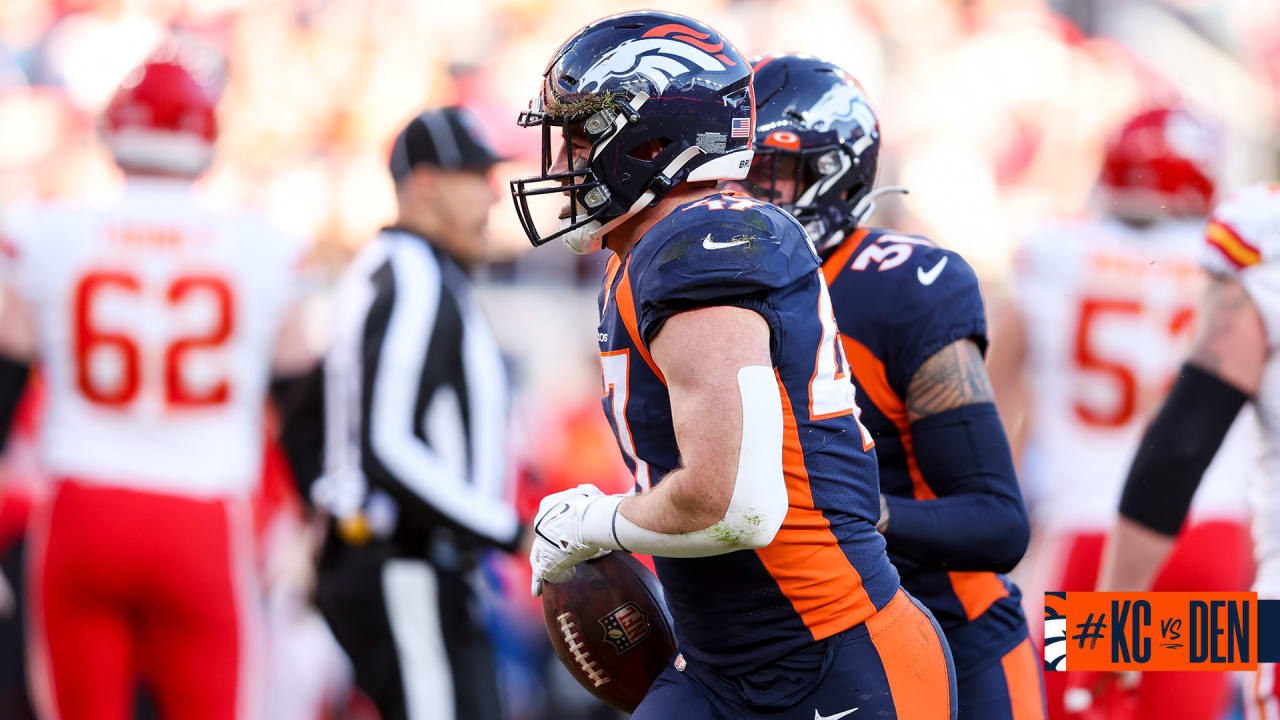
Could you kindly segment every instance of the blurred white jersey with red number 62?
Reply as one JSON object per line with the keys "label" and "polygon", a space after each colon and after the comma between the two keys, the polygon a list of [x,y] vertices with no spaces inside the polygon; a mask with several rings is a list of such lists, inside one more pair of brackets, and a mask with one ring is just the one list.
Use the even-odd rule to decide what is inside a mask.
{"label": "blurred white jersey with red number 62", "polygon": [[305,247],[131,181],[105,208],[12,208],[0,274],[27,302],[54,477],[191,497],[259,479],[276,336]]}

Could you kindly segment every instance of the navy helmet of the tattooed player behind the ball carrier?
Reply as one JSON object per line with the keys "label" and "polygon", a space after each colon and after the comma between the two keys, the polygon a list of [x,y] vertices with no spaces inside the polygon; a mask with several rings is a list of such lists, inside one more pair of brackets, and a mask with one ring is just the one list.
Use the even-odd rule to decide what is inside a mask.
{"label": "navy helmet of the tattooed player behind the ball carrier", "polygon": [[755,163],[746,188],[795,215],[822,251],[874,206],[879,122],[861,85],[836,64],[788,53],[754,58],[751,67]]}

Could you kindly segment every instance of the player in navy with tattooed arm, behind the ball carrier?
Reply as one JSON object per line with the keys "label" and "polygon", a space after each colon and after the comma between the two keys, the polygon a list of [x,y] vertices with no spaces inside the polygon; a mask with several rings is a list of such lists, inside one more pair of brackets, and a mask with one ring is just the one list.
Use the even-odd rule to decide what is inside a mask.
{"label": "player in navy with tattooed arm, behind the ball carrier", "polygon": [[753,65],[756,154],[740,184],[788,210],[823,258],[854,384],[869,400],[878,528],[902,587],[946,632],[961,719],[1041,719],[1041,664],[1021,596],[1001,574],[1029,529],[983,366],[978,279],[924,237],[860,227],[877,195],[879,124],[847,72],[799,54]]}

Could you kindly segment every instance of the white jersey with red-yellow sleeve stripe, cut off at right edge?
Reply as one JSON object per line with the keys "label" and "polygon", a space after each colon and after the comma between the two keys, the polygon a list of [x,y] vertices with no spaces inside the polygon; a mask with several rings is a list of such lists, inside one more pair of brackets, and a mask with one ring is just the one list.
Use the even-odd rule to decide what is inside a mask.
{"label": "white jersey with red-yellow sleeve stripe, cut off at right edge", "polygon": [[1202,243],[1208,272],[1236,275],[1267,334],[1267,363],[1258,389],[1258,420],[1266,445],[1265,473],[1253,487],[1256,587],[1280,598],[1280,184],[1258,184],[1213,211]]}

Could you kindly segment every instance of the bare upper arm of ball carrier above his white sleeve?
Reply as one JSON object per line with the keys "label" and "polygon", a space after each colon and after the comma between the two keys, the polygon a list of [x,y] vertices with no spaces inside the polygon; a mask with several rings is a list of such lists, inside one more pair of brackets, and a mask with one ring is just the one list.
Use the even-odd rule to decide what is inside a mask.
{"label": "bare upper arm of ball carrier above his white sleeve", "polygon": [[768,323],[742,307],[701,307],[668,318],[649,347],[667,380],[681,465],[727,502],[742,437],[737,372],[772,366]]}

